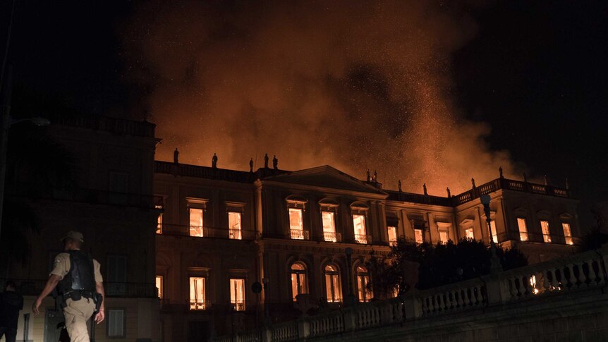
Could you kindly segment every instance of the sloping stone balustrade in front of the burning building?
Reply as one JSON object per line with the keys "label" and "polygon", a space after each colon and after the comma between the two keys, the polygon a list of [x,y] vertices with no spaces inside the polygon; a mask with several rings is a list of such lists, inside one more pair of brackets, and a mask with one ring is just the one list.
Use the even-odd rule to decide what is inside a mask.
{"label": "sloping stone balustrade in front of the burning building", "polygon": [[[224,341],[305,341],[356,334],[367,329],[403,326],[407,322],[443,315],[480,314],[513,305],[542,305],[548,298],[558,302],[577,295],[603,293],[607,285],[608,245],[600,250],[552,259],[509,271],[497,271],[425,291],[412,290],[389,300],[359,303],[341,310],[274,324],[236,336],[212,339]],[[525,309],[523,309],[525,310]]]}

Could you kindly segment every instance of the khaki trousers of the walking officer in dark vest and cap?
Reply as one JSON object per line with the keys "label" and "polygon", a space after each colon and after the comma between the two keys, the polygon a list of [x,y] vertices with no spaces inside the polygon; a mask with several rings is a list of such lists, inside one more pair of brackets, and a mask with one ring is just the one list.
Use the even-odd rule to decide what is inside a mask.
{"label": "khaki trousers of the walking officer in dark vest and cap", "polygon": [[89,342],[89,331],[87,331],[87,320],[95,311],[95,303],[92,299],[80,298],[80,300],[66,300],[63,308],[63,317],[66,319],[66,329],[70,335],[71,342]]}

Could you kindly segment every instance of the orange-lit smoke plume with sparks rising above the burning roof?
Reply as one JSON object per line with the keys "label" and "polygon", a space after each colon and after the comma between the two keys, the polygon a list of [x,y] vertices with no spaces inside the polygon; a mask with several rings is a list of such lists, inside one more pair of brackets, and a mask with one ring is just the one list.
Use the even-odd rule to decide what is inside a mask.
{"label": "orange-lit smoke plume with sparks rising above the burning roof", "polygon": [[[450,1],[449,1],[450,2]],[[150,90],[157,159],[248,170],[329,164],[385,188],[445,195],[505,176],[490,128],[451,95],[451,53],[475,34],[437,1],[150,2],[124,40],[130,80]]]}

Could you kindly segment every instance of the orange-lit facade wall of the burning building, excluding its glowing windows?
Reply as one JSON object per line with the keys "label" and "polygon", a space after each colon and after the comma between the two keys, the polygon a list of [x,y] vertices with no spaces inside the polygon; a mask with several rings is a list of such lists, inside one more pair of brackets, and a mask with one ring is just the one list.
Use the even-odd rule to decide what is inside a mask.
{"label": "orange-lit facade wall of the burning building, excluding its glowing windows", "polygon": [[[313,305],[327,297],[327,264],[338,269],[343,303],[351,288],[356,298],[356,267],[364,265],[372,252],[389,252],[389,225],[396,226],[397,236],[411,240],[413,229],[420,228],[428,243],[439,243],[439,229],[445,228],[449,239],[460,240],[466,236],[465,226],[470,226],[475,238],[489,241],[479,200],[451,205],[450,198],[412,194],[407,196],[413,200],[400,200],[407,196],[385,192],[377,183],[354,180],[329,166],[293,173],[271,169],[246,173],[165,162],[157,162],[157,168],[154,193],[166,199],[163,233],[157,236],[157,274],[165,279],[161,312],[164,337],[171,341],[187,341],[188,322],[193,321],[208,322],[209,336],[214,336],[250,329],[256,322],[261,325],[266,310],[271,322],[297,317],[300,312],[293,301],[290,272],[295,262],[305,265],[308,300]],[[188,236],[188,197],[206,201],[204,224],[212,228],[209,236]],[[571,252],[557,229],[552,228],[552,243],[543,243],[542,234],[538,240],[537,213],[548,214],[551,225],[560,229],[561,220],[569,221],[576,237],[576,200],[503,189],[492,192],[491,197],[491,219],[502,245],[517,245],[530,262]],[[243,240],[227,236],[227,201],[243,204]],[[524,206],[530,212],[530,241],[525,242],[519,241],[516,222]],[[291,238],[290,207],[303,210],[305,239]],[[324,240],[323,210],[334,212],[336,242]],[[355,242],[353,213],[365,216],[368,243]],[[350,264],[347,248],[353,250]],[[205,300],[211,305],[207,310],[189,310],[188,277],[193,274],[208,277]],[[231,276],[245,279],[245,312],[231,311]],[[251,285],[264,279],[265,291],[253,293]],[[339,307],[341,303],[327,305]]]}

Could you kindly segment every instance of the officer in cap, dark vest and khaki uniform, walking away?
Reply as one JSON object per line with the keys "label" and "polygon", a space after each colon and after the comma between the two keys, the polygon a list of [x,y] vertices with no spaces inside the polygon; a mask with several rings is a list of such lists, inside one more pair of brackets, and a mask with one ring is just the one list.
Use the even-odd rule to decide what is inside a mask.
{"label": "officer in cap, dark vest and khaki uniform, walking away", "polygon": [[87,252],[80,251],[84,242],[82,233],[68,231],[62,241],[65,252],[55,257],[53,271],[32,305],[32,311],[39,314],[38,308],[42,300],[57,287],[71,341],[89,342],[87,320],[95,311],[96,302],[99,303],[99,312],[95,315],[95,322],[99,324],[105,317],[104,285],[102,274],[99,273],[99,262]]}

